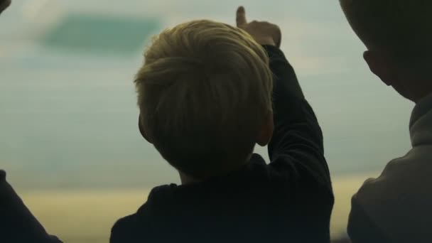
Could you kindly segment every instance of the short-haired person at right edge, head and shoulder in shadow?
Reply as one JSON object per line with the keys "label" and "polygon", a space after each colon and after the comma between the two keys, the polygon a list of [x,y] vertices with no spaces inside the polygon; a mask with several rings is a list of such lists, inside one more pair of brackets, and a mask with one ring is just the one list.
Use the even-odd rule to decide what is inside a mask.
{"label": "short-haired person at right edge, head and shoulder in shadow", "polygon": [[409,124],[413,148],[352,198],[348,232],[355,243],[432,242],[432,1],[340,3],[367,46],[372,72],[416,102]]}

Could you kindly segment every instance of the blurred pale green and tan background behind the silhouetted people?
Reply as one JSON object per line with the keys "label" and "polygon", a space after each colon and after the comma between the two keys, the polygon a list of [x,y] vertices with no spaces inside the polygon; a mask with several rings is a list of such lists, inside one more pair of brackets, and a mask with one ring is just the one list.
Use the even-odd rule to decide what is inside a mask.
{"label": "blurred pale green and tan background behind the silhouetted people", "polygon": [[352,194],[408,151],[413,105],[369,72],[335,0],[14,1],[0,21],[0,168],[50,233],[107,242],[151,188],[180,182],[139,134],[134,74],[163,28],[197,18],[234,25],[239,5],[282,29],[323,127],[332,236],[345,236]]}

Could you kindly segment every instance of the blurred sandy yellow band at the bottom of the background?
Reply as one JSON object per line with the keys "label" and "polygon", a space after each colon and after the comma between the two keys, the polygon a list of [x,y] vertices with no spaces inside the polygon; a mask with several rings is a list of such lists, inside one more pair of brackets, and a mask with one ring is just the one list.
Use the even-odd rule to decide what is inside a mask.
{"label": "blurred sandy yellow band at the bottom of the background", "polygon": [[[351,196],[362,183],[378,173],[333,178],[335,207],[332,237],[345,237]],[[68,243],[109,242],[114,222],[136,212],[146,201],[147,190],[70,190],[18,192],[50,234]]]}

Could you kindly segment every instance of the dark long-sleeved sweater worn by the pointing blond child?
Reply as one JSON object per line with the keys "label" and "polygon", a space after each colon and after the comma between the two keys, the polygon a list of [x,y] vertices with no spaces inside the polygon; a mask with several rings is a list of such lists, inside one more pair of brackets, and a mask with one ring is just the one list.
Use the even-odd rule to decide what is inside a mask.
{"label": "dark long-sleeved sweater worn by the pointing blond child", "polygon": [[111,242],[330,242],[333,190],[323,135],[279,48],[264,46],[275,76],[271,163],[254,154],[239,171],[162,185]]}

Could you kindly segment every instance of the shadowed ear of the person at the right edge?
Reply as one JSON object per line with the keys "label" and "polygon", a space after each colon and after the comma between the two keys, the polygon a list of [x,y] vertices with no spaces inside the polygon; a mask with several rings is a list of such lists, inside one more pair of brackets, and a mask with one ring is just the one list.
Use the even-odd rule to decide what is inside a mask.
{"label": "shadowed ear of the person at the right edge", "polygon": [[367,50],[363,54],[363,58],[365,58],[370,70],[387,86],[390,86],[395,82],[394,74],[392,73],[393,67],[387,56],[377,51]]}

